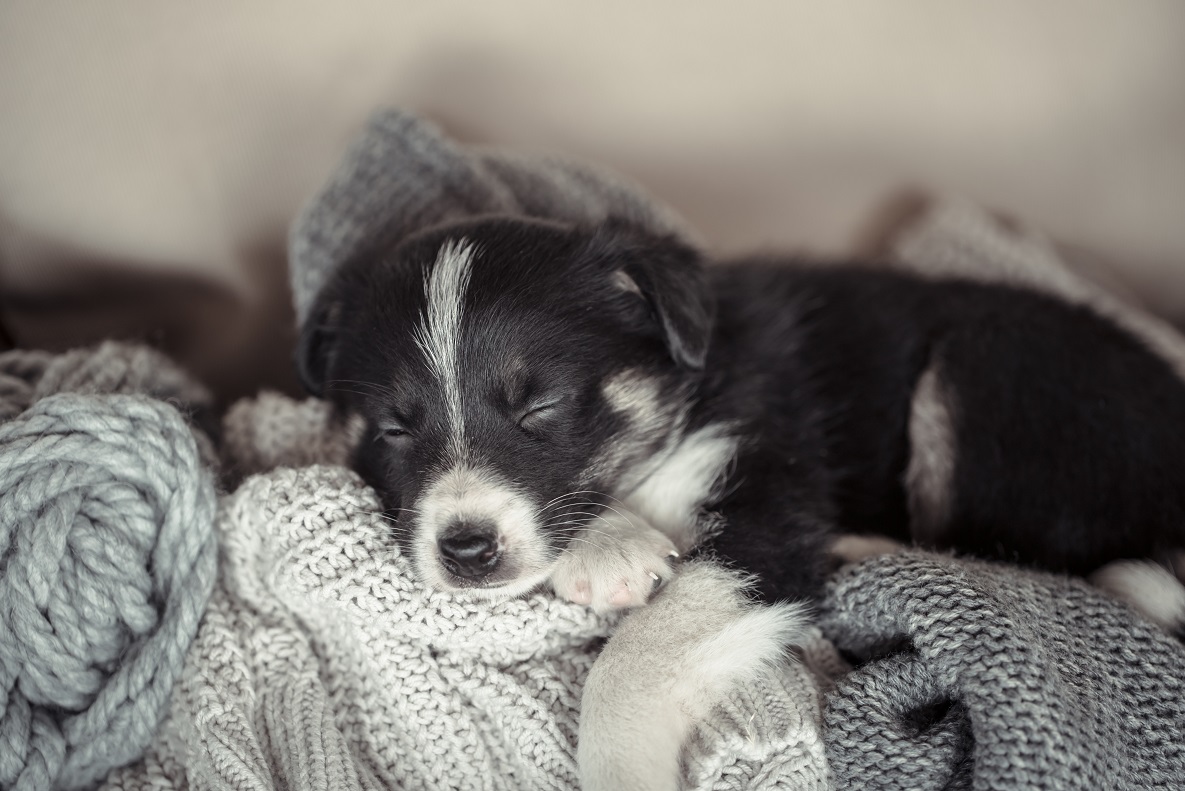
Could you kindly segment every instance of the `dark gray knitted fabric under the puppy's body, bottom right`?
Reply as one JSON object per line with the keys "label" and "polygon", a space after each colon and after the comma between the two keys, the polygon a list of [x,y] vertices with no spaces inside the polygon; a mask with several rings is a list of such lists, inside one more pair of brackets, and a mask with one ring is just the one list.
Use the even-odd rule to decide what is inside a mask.
{"label": "dark gray knitted fabric under the puppy's body, bottom right", "polygon": [[841,573],[820,618],[867,660],[826,701],[840,787],[1185,783],[1185,650],[1083,580],[907,552]]}

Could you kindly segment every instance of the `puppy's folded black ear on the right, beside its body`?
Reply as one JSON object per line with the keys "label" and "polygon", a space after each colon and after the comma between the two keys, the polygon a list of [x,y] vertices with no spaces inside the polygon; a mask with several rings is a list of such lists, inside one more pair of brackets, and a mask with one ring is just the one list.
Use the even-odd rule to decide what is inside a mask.
{"label": "puppy's folded black ear on the right, beside its body", "polygon": [[703,368],[715,304],[699,253],[671,238],[648,239],[629,247],[613,275],[615,283],[649,303],[675,362]]}

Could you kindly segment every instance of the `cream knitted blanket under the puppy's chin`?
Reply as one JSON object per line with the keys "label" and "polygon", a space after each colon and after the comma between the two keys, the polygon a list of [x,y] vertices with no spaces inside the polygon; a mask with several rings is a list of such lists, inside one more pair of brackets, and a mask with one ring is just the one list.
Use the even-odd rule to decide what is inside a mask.
{"label": "cream knitted blanket under the puppy's chin", "polygon": [[[228,461],[254,475],[222,503],[219,579],[169,719],[104,787],[578,787],[582,686],[615,619],[424,589],[333,464],[347,435],[316,401],[228,414]],[[806,652],[840,667],[821,638]],[[787,662],[693,734],[686,787],[825,787],[819,703]]]}

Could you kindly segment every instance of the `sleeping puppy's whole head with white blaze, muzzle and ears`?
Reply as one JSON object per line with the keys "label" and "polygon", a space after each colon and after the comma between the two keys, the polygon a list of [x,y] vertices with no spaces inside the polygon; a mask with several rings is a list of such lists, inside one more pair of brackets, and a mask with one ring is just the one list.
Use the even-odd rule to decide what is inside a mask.
{"label": "sleeping puppy's whole head with white blaze, muzzle and ears", "polygon": [[359,471],[423,581],[515,596],[667,439],[710,324],[672,239],[485,218],[342,266],[297,365],[365,418]]}

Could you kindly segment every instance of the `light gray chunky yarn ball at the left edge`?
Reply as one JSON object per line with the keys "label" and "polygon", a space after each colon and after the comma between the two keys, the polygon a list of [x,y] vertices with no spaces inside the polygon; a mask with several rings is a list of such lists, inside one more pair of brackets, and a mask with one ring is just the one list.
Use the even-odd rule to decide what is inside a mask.
{"label": "light gray chunky yarn ball at the left edge", "polygon": [[0,789],[139,758],[197,631],[213,481],[178,410],[136,391],[204,393],[137,347],[0,355]]}

